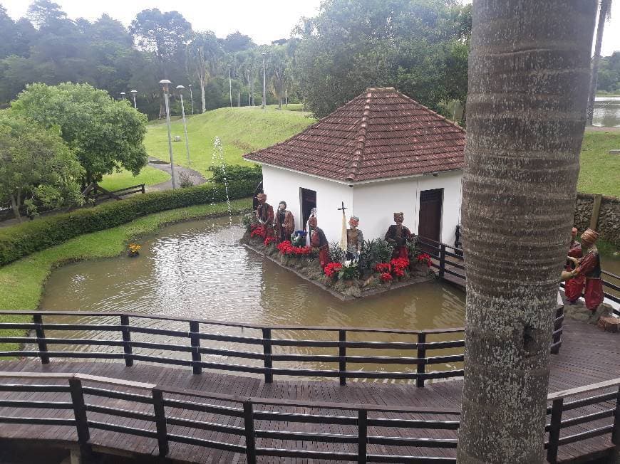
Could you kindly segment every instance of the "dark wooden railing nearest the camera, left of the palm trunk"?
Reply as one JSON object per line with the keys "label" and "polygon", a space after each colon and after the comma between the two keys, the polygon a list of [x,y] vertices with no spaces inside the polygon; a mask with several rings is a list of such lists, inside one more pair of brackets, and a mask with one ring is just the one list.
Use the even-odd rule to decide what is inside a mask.
{"label": "dark wooden railing nearest the camera, left of the palm trunk", "polygon": [[[19,382],[6,383],[11,379]],[[46,383],[49,381],[53,384]],[[135,436],[135,440],[156,440],[158,454],[170,458],[179,452],[176,448],[171,453],[171,445],[182,443],[241,453],[249,464],[256,463],[258,456],[357,463],[456,462],[441,451],[456,448],[456,433],[450,434],[453,438],[438,438],[459,427],[460,412],[447,408],[247,398],[84,374],[0,372],[0,392],[29,394],[27,399],[5,399],[3,395],[0,408],[46,411],[44,417],[17,416],[11,411],[0,416],[0,424],[75,427],[81,453],[87,460],[92,453],[91,431],[96,429]],[[108,406],[105,399],[126,401],[128,407],[118,407],[118,401],[115,407]],[[62,413],[67,410],[73,411],[71,416]],[[93,417],[93,413],[97,416]],[[115,423],[113,418],[133,419],[133,426]],[[386,432],[390,435],[384,435]],[[99,445],[118,448],[114,436],[108,436],[108,441],[98,437]],[[383,453],[369,453],[371,445],[381,445],[377,449]],[[410,455],[407,451],[411,448],[436,451]]]}

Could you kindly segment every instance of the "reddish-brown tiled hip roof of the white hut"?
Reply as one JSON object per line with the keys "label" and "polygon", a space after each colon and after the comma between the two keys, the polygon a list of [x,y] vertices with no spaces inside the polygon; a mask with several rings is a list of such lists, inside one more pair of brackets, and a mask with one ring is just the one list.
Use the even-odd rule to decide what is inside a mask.
{"label": "reddish-brown tiled hip roof of the white hut", "polygon": [[465,167],[465,131],[393,88],[371,88],[294,135],[245,159],[339,181]]}

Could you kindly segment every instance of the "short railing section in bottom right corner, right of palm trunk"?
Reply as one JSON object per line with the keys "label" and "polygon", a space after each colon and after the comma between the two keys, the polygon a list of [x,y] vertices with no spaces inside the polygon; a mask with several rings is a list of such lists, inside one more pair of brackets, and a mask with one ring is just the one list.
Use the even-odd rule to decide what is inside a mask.
{"label": "short railing section in bottom right corner, right of palm trunk", "polygon": [[[558,448],[569,443],[577,443],[597,436],[610,435],[611,443],[620,446],[620,379],[603,381],[598,384],[581,386],[575,389],[558,391],[550,394],[548,400],[551,406],[547,408],[549,423],[545,431],[549,432],[549,439],[545,443],[547,461],[557,462]],[[598,390],[604,393],[589,396]],[[566,401],[570,397],[577,399]],[[585,406],[596,405],[590,411],[577,411]],[[569,418],[563,417],[567,411],[572,412]],[[577,413],[574,413],[577,411]],[[610,419],[611,418],[611,419]],[[607,419],[607,420],[605,420]],[[571,430],[574,426],[581,426]],[[583,431],[583,428],[586,430]],[[561,436],[562,431],[569,431],[568,435]],[[571,433],[572,431],[572,433]]]}

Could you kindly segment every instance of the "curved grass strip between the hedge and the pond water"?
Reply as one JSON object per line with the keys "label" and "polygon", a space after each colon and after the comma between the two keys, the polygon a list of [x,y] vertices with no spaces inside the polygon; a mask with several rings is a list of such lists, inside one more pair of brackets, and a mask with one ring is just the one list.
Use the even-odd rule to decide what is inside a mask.
{"label": "curved grass strip between the hedge and the pond water", "polygon": [[[232,211],[239,213],[252,208],[251,199],[231,201]],[[61,245],[33,253],[15,263],[0,268],[0,308],[3,310],[36,310],[43,285],[53,268],[63,263],[119,255],[129,241],[153,233],[165,224],[202,218],[210,214],[227,213],[227,204],[197,205],[150,214],[115,228],[72,238]],[[29,322],[30,318],[0,315],[0,322]],[[20,337],[22,330],[2,330],[4,337]],[[1,344],[0,350],[9,348]]]}

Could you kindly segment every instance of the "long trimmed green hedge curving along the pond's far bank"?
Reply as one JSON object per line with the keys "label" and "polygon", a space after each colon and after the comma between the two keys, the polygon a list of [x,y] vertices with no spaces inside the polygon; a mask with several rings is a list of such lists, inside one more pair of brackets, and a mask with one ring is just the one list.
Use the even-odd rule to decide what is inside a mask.
{"label": "long trimmed green hedge curving along the pond's far bank", "polygon": [[[254,194],[254,181],[232,181],[229,199]],[[226,200],[221,184],[207,183],[186,189],[167,190],[132,196],[122,201],[109,201],[94,208],[80,209],[49,218],[0,229],[0,265],[67,241],[83,233],[120,226],[140,216],[167,209],[182,208]]]}

